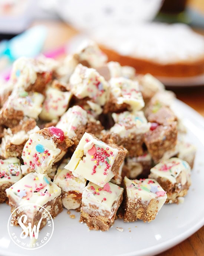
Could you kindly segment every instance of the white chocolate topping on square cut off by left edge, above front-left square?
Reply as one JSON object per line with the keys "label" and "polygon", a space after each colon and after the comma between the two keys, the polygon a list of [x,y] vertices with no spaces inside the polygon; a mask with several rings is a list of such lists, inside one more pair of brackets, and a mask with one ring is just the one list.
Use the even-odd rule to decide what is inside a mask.
{"label": "white chocolate topping on square cut off by left edge, above front-left square", "polygon": [[15,183],[22,176],[20,160],[17,157],[0,159],[0,186],[5,183]]}

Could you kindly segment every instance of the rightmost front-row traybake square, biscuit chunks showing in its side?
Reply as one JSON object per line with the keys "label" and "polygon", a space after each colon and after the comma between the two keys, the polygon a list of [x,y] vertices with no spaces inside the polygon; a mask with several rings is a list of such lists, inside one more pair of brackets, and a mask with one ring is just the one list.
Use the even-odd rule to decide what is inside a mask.
{"label": "rightmost front-row traybake square, biscuit chunks showing in its side", "polygon": [[164,205],[167,195],[154,179],[129,180],[124,178],[124,221],[152,221]]}

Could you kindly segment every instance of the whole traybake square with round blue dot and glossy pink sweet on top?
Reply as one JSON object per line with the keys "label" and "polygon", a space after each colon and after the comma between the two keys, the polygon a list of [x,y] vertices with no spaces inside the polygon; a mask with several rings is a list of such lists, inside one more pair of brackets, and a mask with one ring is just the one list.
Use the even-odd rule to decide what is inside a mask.
{"label": "whole traybake square with round blue dot and glossy pink sweet on top", "polygon": [[29,172],[45,173],[52,165],[62,159],[72,141],[65,139],[61,129],[49,127],[30,134],[23,148],[23,174]]}

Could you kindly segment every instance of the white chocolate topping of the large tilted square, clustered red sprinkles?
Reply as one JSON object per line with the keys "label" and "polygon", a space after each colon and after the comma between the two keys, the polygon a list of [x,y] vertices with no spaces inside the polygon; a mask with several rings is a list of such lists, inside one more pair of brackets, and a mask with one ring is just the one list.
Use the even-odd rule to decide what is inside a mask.
{"label": "white chocolate topping of the large tilted square, clustered red sprinkles", "polygon": [[118,151],[85,132],[65,168],[103,187],[114,176],[111,169]]}

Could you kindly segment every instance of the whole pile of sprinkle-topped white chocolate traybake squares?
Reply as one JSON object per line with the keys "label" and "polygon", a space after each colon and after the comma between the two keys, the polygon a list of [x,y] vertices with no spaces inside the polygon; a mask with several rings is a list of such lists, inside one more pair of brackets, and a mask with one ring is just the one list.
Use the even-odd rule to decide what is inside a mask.
{"label": "whole pile of sprinkle-topped white chocolate traybake squares", "polygon": [[0,87],[0,203],[76,209],[102,231],[116,216],[154,220],[191,185],[195,147],[174,97],[92,41],[62,62],[19,58]]}

